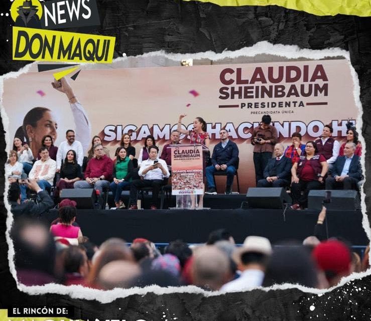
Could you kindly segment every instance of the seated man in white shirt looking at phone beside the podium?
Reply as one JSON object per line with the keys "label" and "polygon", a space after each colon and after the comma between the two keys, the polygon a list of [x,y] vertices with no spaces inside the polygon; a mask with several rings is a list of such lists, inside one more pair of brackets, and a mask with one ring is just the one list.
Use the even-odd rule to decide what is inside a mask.
{"label": "seated man in white shirt looking at phone beside the podium", "polygon": [[164,184],[164,178],[170,176],[168,166],[163,159],[159,159],[159,147],[153,145],[148,148],[150,158],[142,162],[139,170],[139,176],[143,176],[143,180],[134,180],[130,189],[130,210],[136,210],[137,207],[137,192],[142,187],[152,187],[152,202],[151,210],[156,210],[157,199],[161,185]]}

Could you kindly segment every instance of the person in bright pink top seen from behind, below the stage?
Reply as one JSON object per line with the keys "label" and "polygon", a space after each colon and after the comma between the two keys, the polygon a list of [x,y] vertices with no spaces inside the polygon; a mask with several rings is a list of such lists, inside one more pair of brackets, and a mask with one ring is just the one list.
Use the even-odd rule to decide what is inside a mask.
{"label": "person in bright pink top seen from behind, below the stage", "polygon": [[72,245],[77,245],[82,239],[82,232],[79,226],[72,225],[76,220],[76,208],[63,206],[59,208],[59,223],[50,227],[54,239],[64,238]]}

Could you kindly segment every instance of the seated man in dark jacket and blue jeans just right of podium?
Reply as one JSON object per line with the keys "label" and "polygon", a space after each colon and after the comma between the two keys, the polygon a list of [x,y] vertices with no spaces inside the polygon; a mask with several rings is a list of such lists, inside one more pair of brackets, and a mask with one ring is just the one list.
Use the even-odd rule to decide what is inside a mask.
{"label": "seated man in dark jacket and blue jeans just right of podium", "polygon": [[216,194],[213,174],[216,171],[225,171],[227,173],[227,184],[225,187],[225,194],[231,193],[234,173],[236,172],[238,164],[238,147],[236,143],[228,139],[228,132],[221,129],[221,142],[215,145],[211,156],[211,164],[206,168],[206,180],[208,190],[206,194]]}

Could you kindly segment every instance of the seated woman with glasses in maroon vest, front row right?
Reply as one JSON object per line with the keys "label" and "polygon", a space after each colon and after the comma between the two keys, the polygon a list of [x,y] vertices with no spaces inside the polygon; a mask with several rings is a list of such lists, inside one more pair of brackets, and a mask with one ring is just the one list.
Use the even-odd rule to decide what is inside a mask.
{"label": "seated woman with glasses in maroon vest, front row right", "polygon": [[[305,155],[301,155],[291,169],[291,196],[293,210],[308,206],[308,194],[310,190],[323,188],[324,177],[328,165],[323,155],[318,154],[317,145],[308,141],[305,145]],[[301,195],[301,192],[304,192]]]}

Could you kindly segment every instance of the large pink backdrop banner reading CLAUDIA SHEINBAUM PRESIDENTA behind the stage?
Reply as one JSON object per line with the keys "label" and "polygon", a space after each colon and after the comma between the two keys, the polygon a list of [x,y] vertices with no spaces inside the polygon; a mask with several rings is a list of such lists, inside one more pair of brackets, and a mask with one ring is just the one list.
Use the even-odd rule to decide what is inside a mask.
{"label": "large pink backdrop banner reading CLAUDIA SHEINBAUM PRESIDENTA behind the stage", "polygon": [[[355,123],[359,113],[346,59],[86,69],[76,81],[69,80],[69,95],[77,97],[76,103],[69,103],[52,81],[52,71],[4,79],[8,149],[15,136],[21,137],[36,158],[44,135],[50,134],[59,146],[66,130],[75,129],[85,155],[94,135],[113,155],[122,134],[129,133],[138,158],[147,135],[154,136],[161,152],[180,114],[186,114],[183,131],[202,117],[211,154],[220,142],[220,129],[237,144],[241,193],[256,184],[251,139],[264,114],[272,117],[278,142],[286,148],[294,132],[305,143],[321,136],[325,124],[332,125],[332,136],[341,144],[346,123]],[[189,143],[187,135],[180,138],[180,143]]]}

